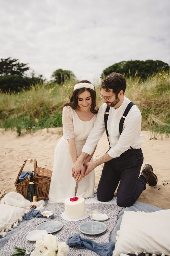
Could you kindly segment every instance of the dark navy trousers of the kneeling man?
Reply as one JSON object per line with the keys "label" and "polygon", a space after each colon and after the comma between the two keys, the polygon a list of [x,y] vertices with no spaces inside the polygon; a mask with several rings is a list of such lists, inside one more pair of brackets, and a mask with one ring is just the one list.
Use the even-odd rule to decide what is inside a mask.
{"label": "dark navy trousers of the kneeling man", "polygon": [[141,148],[128,149],[121,156],[106,162],[97,189],[98,200],[103,202],[112,200],[118,187],[117,205],[121,207],[133,205],[146,189],[146,179],[143,176],[139,177],[142,163]]}

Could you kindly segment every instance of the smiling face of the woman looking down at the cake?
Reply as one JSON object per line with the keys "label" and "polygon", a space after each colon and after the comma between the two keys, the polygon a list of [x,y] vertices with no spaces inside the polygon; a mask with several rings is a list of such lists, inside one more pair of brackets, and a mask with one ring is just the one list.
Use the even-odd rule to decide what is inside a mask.
{"label": "smiling face of the woman looking down at the cake", "polygon": [[80,109],[83,109],[83,110],[90,109],[91,103],[92,103],[90,91],[84,91],[83,93],[80,93],[78,95],[77,100],[78,100],[78,106],[80,107]]}

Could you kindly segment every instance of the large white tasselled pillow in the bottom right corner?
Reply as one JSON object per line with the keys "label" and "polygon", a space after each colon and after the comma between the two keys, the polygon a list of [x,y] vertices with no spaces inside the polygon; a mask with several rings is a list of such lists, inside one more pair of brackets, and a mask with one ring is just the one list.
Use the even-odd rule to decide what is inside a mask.
{"label": "large white tasselled pillow in the bottom right corner", "polygon": [[170,210],[124,211],[117,234],[113,256],[141,252],[170,255]]}

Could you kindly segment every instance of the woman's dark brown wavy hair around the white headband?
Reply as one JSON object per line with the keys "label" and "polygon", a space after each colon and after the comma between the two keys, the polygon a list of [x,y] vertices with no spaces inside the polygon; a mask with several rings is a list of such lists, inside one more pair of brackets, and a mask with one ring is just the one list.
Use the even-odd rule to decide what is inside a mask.
{"label": "woman's dark brown wavy hair around the white headband", "polygon": [[[88,80],[81,80],[77,82],[77,84],[81,84],[81,83],[91,84],[91,82],[89,82]],[[90,92],[91,100],[92,100],[90,111],[91,113],[97,114],[99,108],[96,106],[96,91],[86,87],[82,87],[80,89],[76,89],[75,91],[72,91],[69,96],[70,102],[65,103],[64,107],[70,106],[72,109],[76,109],[78,105],[78,96],[80,93],[83,93],[84,91]]]}

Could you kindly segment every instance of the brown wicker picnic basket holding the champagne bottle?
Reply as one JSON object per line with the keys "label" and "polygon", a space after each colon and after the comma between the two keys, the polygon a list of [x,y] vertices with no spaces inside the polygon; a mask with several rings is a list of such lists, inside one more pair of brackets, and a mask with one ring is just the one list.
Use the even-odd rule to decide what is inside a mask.
{"label": "brown wicker picnic basket holding the champagne bottle", "polygon": [[[18,178],[19,178],[19,175],[21,174],[21,172],[23,171],[25,163],[30,160],[31,159],[27,159],[24,161],[24,163],[21,166],[21,169],[19,171],[19,174],[16,178],[16,181],[15,181],[16,192],[22,194],[26,199],[27,199],[27,190],[28,190],[28,185],[29,185],[29,179],[25,179],[18,183]],[[38,167],[37,160],[36,159],[34,160],[34,184],[36,186],[36,191],[37,191],[37,201],[48,200],[51,175],[52,175],[51,170],[48,170],[48,169],[45,169],[42,167]]]}

